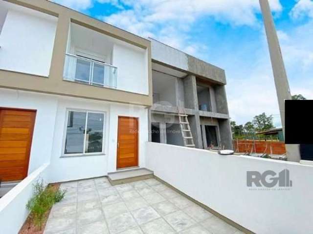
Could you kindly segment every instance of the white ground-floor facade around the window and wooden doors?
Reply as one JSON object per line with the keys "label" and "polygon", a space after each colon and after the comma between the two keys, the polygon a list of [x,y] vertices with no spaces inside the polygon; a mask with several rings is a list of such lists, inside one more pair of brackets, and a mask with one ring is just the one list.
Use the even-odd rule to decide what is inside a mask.
{"label": "white ground-floor facade around the window and wooden doors", "polygon": [[[138,118],[139,167],[145,166],[144,143],[148,141],[145,107],[9,89],[0,89],[0,107],[37,111],[28,174],[44,163],[50,164],[49,182],[106,176],[116,171],[118,116]],[[103,153],[64,156],[68,109],[105,113]]]}

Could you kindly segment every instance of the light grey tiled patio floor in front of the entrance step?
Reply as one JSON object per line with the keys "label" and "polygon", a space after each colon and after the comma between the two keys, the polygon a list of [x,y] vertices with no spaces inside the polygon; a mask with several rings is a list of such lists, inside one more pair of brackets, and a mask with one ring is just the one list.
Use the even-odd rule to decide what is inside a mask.
{"label": "light grey tiled patio floor in front of the entrance step", "polygon": [[45,234],[240,234],[156,179],[111,186],[107,178],[63,183],[65,198]]}

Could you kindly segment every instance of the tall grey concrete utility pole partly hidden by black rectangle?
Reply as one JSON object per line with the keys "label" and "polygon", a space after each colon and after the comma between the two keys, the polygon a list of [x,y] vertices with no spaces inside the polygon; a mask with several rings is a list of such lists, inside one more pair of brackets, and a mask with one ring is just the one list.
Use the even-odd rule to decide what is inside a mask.
{"label": "tall grey concrete utility pole partly hidden by black rectangle", "polygon": [[[280,118],[282,122],[283,134],[285,138],[285,100],[291,99],[291,92],[289,88],[286,69],[283,57],[280,50],[280,45],[274,25],[274,21],[270,12],[268,0],[260,0],[261,10],[263,14],[265,31],[268,39],[268,49],[274,81],[276,86],[276,93],[278,98]],[[286,144],[287,157],[290,161],[299,162],[300,151],[299,145]]]}

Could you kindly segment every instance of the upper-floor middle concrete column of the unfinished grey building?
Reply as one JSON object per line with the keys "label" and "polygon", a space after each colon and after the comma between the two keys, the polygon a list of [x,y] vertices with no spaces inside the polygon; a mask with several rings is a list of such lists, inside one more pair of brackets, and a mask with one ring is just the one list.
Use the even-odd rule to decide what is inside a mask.
{"label": "upper-floor middle concrete column of the unfinished grey building", "polygon": [[183,79],[185,93],[185,108],[198,110],[196,77],[189,75]]}

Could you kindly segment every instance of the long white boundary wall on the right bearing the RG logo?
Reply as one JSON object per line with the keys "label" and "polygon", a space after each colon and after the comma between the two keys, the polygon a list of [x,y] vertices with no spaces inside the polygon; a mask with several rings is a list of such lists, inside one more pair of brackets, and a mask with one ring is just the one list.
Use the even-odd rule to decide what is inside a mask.
{"label": "long white boundary wall on the right bearing the RG logo", "polygon": [[[312,231],[313,166],[207,150],[147,143],[146,165],[155,175],[258,234]],[[249,190],[246,172],[290,171],[290,190]],[[253,187],[255,188],[255,187]]]}

